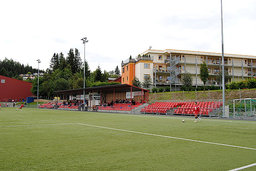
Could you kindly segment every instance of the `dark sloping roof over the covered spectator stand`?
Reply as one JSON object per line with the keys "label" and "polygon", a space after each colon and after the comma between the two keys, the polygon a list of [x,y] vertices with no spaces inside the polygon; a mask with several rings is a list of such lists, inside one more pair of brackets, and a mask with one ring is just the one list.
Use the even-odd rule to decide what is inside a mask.
{"label": "dark sloping roof over the covered spectator stand", "polygon": [[119,93],[119,92],[133,92],[133,91],[148,91],[143,88],[135,87],[129,84],[120,84],[120,85],[107,85],[107,86],[100,86],[100,87],[89,87],[89,88],[79,88],[79,89],[71,89],[71,90],[61,90],[61,91],[54,91],[58,94],[68,94],[68,95],[79,95],[81,92],[102,92],[102,93]]}

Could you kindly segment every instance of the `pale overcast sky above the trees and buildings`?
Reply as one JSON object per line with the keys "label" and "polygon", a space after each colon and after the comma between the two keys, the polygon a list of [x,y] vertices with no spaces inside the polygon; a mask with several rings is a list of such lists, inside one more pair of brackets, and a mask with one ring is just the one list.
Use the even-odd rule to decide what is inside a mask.
{"label": "pale overcast sky above the trees and buildings", "polygon": [[[46,70],[78,48],[94,71],[154,50],[221,53],[221,0],[4,0],[0,60]],[[256,1],[223,0],[224,53],[256,56]]]}

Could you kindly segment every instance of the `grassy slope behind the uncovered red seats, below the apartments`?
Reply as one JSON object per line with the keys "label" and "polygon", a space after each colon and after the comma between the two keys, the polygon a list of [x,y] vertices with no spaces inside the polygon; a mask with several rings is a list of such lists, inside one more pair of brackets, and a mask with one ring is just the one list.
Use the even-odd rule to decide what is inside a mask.
{"label": "grassy slope behind the uncovered red seats, below the apartments", "polygon": [[[156,93],[156,95],[154,93],[150,93],[149,101],[154,101],[155,97],[156,100],[196,100],[195,91],[184,91],[184,95],[183,91]],[[256,89],[241,90],[241,98],[256,98]],[[209,91],[197,91],[197,100],[205,99],[222,99],[222,90],[210,91],[210,97]],[[226,90],[225,100],[227,101],[233,99],[240,99],[239,90]]]}

